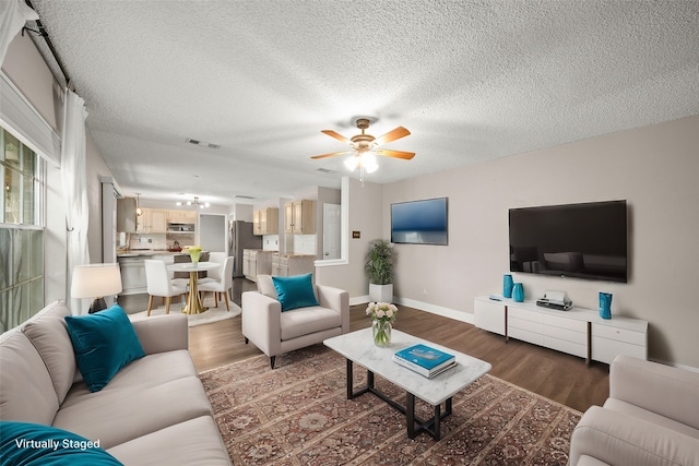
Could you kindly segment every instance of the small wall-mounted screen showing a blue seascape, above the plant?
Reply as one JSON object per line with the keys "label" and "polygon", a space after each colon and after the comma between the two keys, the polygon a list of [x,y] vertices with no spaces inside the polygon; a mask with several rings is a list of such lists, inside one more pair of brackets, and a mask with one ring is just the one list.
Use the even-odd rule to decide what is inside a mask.
{"label": "small wall-mounted screen showing a blue seascape, above the plant", "polygon": [[448,244],[447,198],[391,204],[391,242]]}

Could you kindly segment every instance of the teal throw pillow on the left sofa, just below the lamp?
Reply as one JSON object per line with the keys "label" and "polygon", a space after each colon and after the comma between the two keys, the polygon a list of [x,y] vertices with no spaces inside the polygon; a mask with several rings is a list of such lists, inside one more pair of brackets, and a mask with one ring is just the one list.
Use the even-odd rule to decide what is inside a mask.
{"label": "teal throw pillow on the left sofa, just below the lamp", "polygon": [[88,315],[67,316],[78,369],[91,392],[99,392],[129,362],[145,356],[119,304]]}

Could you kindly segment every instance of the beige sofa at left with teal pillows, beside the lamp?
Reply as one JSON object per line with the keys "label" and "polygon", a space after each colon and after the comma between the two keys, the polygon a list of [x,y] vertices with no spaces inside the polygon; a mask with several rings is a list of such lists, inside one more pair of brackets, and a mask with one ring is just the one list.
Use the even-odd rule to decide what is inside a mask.
{"label": "beige sofa at left with teal pillows, beside the lamp", "polygon": [[91,392],[67,331],[70,314],[55,302],[0,337],[1,421],[98,440],[125,465],[230,465],[188,351],[186,315],[133,322],[146,356]]}

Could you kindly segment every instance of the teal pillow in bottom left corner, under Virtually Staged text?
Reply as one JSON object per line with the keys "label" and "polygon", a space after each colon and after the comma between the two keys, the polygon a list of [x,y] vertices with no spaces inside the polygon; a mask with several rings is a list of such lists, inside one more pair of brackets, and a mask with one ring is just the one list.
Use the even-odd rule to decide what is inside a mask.
{"label": "teal pillow in bottom left corner, under Virtually Staged text", "polygon": [[73,432],[39,423],[0,422],[3,466],[121,466],[99,446]]}

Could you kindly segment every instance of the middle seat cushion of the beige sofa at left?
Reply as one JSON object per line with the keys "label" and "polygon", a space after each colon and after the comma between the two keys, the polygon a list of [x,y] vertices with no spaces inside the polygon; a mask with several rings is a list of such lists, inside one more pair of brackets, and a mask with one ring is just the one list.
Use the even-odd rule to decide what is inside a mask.
{"label": "middle seat cushion of the beige sofa at left", "polygon": [[[144,373],[144,378],[149,374]],[[213,416],[204,389],[196,377],[178,379],[156,386],[93,393],[80,403],[72,391],[56,414],[54,426],[92,440],[103,449],[200,416]]]}

